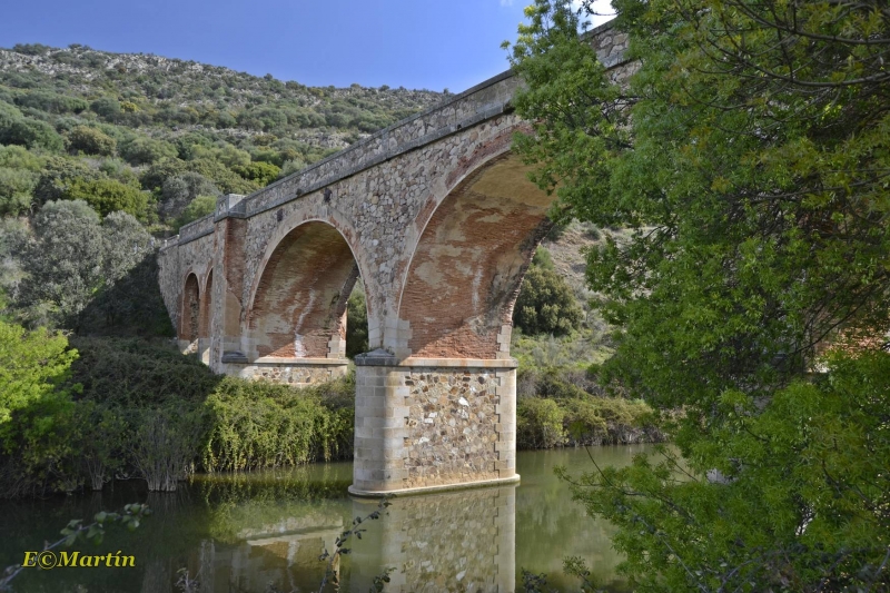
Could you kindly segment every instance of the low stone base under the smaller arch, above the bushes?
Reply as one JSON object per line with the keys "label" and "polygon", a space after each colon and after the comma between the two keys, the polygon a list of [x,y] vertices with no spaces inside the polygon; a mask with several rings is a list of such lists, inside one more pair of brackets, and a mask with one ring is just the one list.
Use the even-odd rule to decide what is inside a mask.
{"label": "low stone base under the smaller arch, above the bushes", "polygon": [[254,362],[225,362],[221,372],[246,379],[263,379],[289,385],[313,385],[345,377],[346,358],[277,358],[265,356]]}

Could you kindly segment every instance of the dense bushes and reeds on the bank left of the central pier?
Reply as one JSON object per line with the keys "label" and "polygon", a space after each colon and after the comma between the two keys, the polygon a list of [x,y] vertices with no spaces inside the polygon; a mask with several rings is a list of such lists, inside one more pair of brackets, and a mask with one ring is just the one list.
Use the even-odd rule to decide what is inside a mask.
{"label": "dense bushes and reeds on the bank left of the central pier", "polygon": [[195,471],[352,455],[350,378],[296,391],[214,375],[162,343],[70,345],[0,322],[0,498],[101,490],[116,476],[174,491]]}

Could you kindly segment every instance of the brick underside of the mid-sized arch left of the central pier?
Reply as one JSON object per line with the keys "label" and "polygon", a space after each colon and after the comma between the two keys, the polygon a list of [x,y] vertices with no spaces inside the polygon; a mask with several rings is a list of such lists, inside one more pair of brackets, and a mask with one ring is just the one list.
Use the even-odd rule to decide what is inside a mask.
{"label": "brick underside of the mid-sized arch left of the central pier", "polygon": [[248,358],[342,358],[359,266],[330,223],[308,220],[270,245],[247,308]]}

